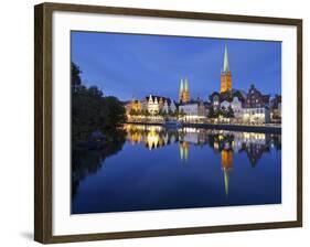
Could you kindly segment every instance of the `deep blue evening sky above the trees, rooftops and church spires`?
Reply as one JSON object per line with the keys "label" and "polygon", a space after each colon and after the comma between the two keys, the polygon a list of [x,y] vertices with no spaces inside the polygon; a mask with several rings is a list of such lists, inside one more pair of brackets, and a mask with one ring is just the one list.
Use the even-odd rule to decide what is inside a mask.
{"label": "deep blue evening sky above the trees, rooftops and church spires", "polygon": [[121,100],[154,94],[178,99],[188,77],[192,98],[220,90],[224,47],[233,87],[254,83],[264,94],[281,93],[281,43],[207,37],[72,32],[72,61],[86,86]]}

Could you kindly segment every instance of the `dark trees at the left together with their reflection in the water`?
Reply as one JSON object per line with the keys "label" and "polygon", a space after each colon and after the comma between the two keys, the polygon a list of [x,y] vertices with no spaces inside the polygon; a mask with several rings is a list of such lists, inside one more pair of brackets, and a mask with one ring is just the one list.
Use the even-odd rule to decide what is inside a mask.
{"label": "dark trees at the left together with their reflection in the water", "polygon": [[96,87],[83,85],[81,68],[71,64],[72,96],[72,197],[79,182],[96,173],[105,159],[116,154],[125,143],[121,125],[125,107],[118,98],[104,96]]}

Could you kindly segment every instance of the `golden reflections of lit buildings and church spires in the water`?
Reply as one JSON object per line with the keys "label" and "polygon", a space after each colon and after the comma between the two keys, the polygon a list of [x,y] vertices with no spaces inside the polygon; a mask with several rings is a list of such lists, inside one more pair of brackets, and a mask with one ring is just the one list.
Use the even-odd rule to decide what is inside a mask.
{"label": "golden reflections of lit buildings and church spires in the water", "polygon": [[281,149],[280,136],[271,133],[196,128],[165,130],[161,126],[142,125],[127,125],[125,128],[128,142],[142,143],[150,151],[179,143],[182,163],[189,161],[191,146],[209,146],[221,157],[226,195],[228,195],[229,173],[234,167],[234,153],[245,153],[250,165],[255,168],[264,153],[270,152],[270,148]]}

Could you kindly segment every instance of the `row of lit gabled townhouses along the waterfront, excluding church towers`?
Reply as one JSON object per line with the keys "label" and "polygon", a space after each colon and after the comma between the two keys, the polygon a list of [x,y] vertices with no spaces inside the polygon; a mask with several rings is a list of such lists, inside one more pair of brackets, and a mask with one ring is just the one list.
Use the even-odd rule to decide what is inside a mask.
{"label": "row of lit gabled townhouses along the waterfront, excluding church towers", "polygon": [[148,111],[150,115],[158,112],[175,114],[185,121],[206,120],[211,108],[216,112],[232,108],[233,121],[242,124],[266,124],[280,121],[281,119],[281,96],[261,94],[255,85],[250,85],[247,93],[233,89],[224,93],[213,93],[209,101],[189,100],[177,103],[168,97],[150,95],[141,100],[132,99],[126,105],[127,112]]}

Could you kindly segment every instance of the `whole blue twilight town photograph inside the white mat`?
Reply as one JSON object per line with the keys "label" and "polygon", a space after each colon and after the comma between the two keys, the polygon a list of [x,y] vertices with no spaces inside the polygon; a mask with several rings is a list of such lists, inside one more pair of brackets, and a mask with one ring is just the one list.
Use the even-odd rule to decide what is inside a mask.
{"label": "whole blue twilight town photograph inside the white mat", "polygon": [[281,203],[281,42],[72,31],[72,214]]}

